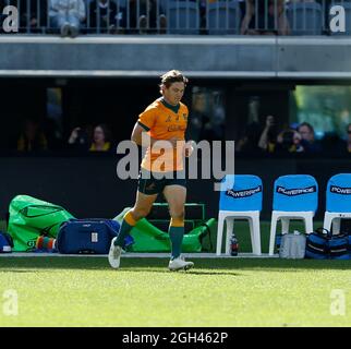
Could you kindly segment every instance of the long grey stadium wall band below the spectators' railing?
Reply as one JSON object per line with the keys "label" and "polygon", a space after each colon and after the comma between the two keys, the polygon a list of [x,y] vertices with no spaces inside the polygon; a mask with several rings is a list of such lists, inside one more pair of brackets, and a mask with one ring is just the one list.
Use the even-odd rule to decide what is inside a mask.
{"label": "long grey stadium wall band below the spectators' railing", "polygon": [[0,76],[350,79],[351,38],[0,37]]}

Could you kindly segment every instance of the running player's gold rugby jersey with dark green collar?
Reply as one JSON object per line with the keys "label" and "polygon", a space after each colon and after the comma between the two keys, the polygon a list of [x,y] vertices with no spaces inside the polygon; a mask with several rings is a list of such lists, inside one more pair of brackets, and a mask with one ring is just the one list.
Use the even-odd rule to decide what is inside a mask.
{"label": "running player's gold rugby jersey with dark green collar", "polygon": [[[138,116],[138,124],[144,128],[150,137],[155,140],[170,140],[177,137],[185,140],[187,125],[187,107],[180,103],[173,107],[167,104],[164,98],[156,99],[144,112]],[[180,171],[183,169],[182,147],[165,148],[157,152],[157,148],[147,148],[142,160],[142,168],[155,172]]]}

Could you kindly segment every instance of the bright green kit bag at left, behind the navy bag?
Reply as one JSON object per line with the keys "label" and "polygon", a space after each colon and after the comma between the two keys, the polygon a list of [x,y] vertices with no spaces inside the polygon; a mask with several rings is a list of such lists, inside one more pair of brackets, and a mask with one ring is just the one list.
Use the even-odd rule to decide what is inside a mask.
{"label": "bright green kit bag at left, behind the navy bag", "polygon": [[63,221],[74,218],[58,205],[28,196],[15,196],[9,207],[8,232],[14,243],[14,252],[35,251],[39,236],[56,238]]}

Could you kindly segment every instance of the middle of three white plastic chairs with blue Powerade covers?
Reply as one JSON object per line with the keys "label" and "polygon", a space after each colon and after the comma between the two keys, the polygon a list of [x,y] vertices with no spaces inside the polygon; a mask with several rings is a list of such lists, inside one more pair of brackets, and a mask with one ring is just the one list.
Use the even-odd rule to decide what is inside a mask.
{"label": "middle of three white plastic chairs with blue Powerade covers", "polygon": [[290,219],[302,219],[305,224],[305,232],[311,233],[317,206],[318,184],[312,176],[288,174],[275,181],[269,255],[274,255],[278,220],[281,220],[281,233],[289,232]]}

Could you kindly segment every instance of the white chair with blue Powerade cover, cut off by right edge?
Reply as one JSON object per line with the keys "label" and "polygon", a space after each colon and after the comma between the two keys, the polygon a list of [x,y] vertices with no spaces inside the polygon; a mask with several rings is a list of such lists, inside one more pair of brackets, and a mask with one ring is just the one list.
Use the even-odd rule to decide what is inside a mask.
{"label": "white chair with blue Powerade cover, cut off by right edge", "polygon": [[351,173],[332,176],[327,184],[326,212],[324,214],[323,228],[332,234],[340,232],[342,218],[351,218]]}

